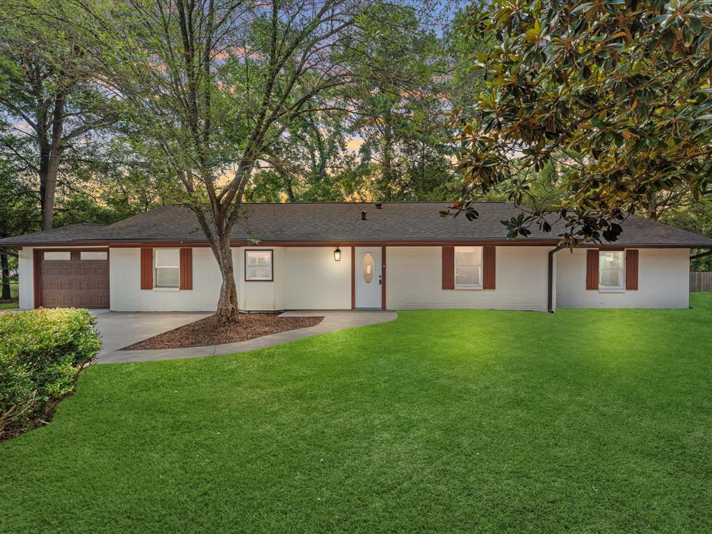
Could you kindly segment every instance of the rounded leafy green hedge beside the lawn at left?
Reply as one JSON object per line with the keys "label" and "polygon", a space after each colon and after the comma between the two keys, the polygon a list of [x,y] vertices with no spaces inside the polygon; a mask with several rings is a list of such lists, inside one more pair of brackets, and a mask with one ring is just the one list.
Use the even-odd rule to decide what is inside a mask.
{"label": "rounded leafy green hedge beside the lawn at left", "polygon": [[101,348],[88,310],[0,314],[0,441],[46,423]]}

